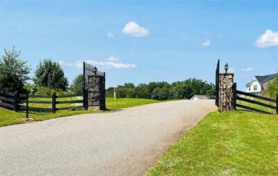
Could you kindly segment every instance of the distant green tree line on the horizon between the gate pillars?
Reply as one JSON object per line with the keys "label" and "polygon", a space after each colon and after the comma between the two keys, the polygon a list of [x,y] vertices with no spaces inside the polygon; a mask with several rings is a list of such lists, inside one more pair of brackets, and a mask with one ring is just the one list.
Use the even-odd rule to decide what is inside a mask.
{"label": "distant green tree line on the horizon between the gate pillars", "polygon": [[[146,98],[146,99],[190,99],[194,95],[206,95],[213,98],[215,86],[201,79],[186,79],[174,83],[150,82],[140,83],[134,86],[133,83],[124,83],[116,88],[117,98]],[[108,88],[106,97],[114,96],[114,88]]]}

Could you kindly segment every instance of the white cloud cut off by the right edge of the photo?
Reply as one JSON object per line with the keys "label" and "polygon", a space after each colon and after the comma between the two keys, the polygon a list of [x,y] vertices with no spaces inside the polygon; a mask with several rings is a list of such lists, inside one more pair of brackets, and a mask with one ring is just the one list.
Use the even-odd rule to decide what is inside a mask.
{"label": "white cloud cut off by the right edge of the photo", "polygon": [[256,40],[256,47],[259,48],[275,46],[278,46],[278,31],[272,32],[270,29],[267,29],[265,33]]}

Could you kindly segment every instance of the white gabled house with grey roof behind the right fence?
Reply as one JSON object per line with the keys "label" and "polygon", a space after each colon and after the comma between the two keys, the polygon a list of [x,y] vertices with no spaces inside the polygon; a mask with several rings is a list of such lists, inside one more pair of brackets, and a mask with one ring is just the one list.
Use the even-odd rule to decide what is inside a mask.
{"label": "white gabled house with grey roof behind the right fence", "polygon": [[268,87],[268,83],[273,81],[277,74],[268,74],[265,76],[254,76],[250,83],[247,83],[246,93],[261,94]]}

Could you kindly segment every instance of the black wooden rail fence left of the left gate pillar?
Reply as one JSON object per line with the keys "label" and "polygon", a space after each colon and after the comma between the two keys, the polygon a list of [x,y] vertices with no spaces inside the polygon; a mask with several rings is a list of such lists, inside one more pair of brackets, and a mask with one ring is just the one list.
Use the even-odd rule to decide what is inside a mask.
{"label": "black wooden rail fence left of the left gate pillar", "polygon": [[[56,111],[59,110],[83,109],[86,106],[85,102],[88,102],[88,99],[86,98],[87,96],[84,96],[85,98],[83,97],[83,99],[77,99],[77,100],[60,100],[61,98],[70,98],[70,97],[83,97],[83,94],[57,96],[56,93],[53,93],[53,95],[29,95],[29,94],[19,94],[17,92],[0,93],[0,106],[3,106],[8,109],[13,109],[14,111],[26,111],[26,116],[28,117],[28,111],[50,111],[52,113],[56,113]],[[35,98],[49,99],[49,101],[33,100]],[[82,106],[56,107],[57,104],[76,104],[76,103],[82,103]],[[51,108],[30,106],[30,104],[51,104]]]}

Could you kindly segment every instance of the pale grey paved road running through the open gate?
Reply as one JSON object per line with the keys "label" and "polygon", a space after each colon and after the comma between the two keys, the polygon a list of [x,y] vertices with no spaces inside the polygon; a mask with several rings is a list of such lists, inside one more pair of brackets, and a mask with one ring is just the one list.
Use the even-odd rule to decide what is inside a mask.
{"label": "pale grey paved road running through the open gate", "polygon": [[144,175],[214,110],[181,100],[0,127],[0,175]]}

